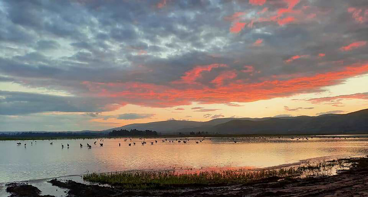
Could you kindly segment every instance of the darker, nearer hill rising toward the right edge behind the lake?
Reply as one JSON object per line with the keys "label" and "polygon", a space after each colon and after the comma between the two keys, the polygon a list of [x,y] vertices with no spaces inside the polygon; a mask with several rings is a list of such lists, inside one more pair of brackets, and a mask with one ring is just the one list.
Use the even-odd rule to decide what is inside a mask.
{"label": "darker, nearer hill rising toward the right edge behind the lake", "polygon": [[368,109],[349,114],[298,116],[289,119],[230,120],[210,129],[220,134],[367,134]]}

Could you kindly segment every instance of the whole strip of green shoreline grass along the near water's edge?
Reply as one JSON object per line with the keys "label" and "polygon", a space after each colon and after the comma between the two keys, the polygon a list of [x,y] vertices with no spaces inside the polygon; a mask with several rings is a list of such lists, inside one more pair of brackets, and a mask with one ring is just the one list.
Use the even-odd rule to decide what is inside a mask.
{"label": "whole strip of green shoreline grass along the near water's edge", "polygon": [[[158,189],[182,186],[232,185],[267,178],[296,178],[326,175],[331,169],[366,168],[368,158],[349,158],[319,163],[305,163],[296,167],[274,170],[221,170],[183,173],[178,171],[123,171],[91,173],[83,176],[85,181],[109,184],[124,189]],[[337,168],[336,168],[337,167]],[[327,173],[328,174],[328,173]]]}

